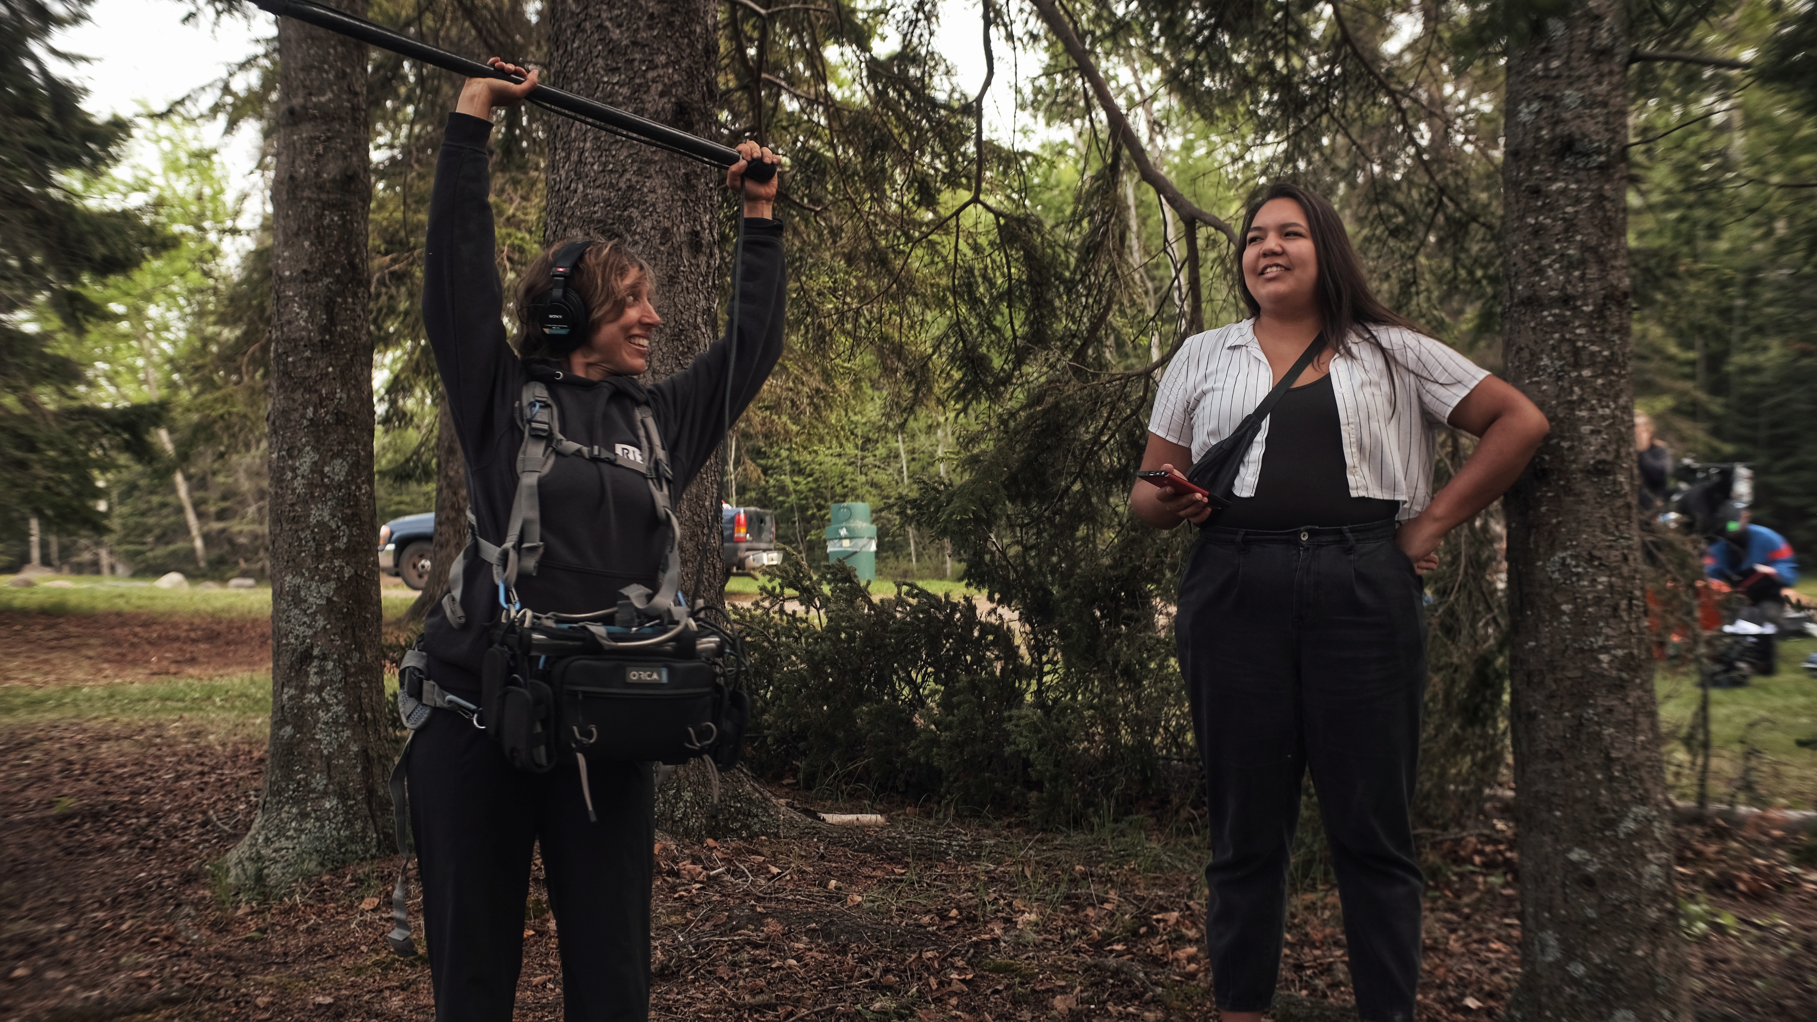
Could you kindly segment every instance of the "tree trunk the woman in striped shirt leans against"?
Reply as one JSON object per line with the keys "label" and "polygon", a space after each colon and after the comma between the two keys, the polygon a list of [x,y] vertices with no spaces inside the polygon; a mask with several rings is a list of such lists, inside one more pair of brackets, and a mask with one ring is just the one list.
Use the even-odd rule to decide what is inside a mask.
{"label": "tree trunk the woman in striped shirt leans against", "polygon": [[1635,514],[1621,0],[1508,56],[1508,379],[1552,434],[1508,492],[1521,1020],[1690,1018]]}

